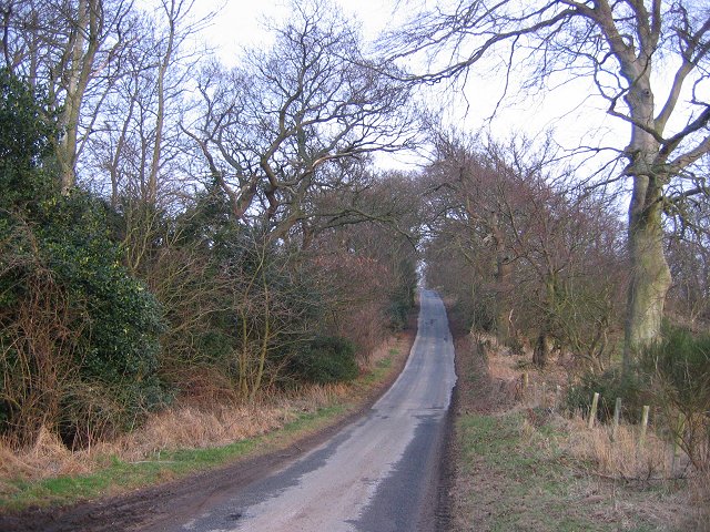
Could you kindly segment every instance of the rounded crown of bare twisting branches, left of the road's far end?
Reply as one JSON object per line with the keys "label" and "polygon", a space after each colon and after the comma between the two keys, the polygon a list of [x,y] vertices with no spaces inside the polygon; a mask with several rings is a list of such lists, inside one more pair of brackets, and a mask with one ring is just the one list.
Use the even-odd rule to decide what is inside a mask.
{"label": "rounded crown of bare twisting branches, left of the road's far end", "polygon": [[352,25],[325,3],[294,14],[271,50],[205,71],[203,114],[186,129],[234,215],[266,217],[274,237],[306,216],[313,190],[337,186],[323,168],[409,141],[408,91],[362,54]]}

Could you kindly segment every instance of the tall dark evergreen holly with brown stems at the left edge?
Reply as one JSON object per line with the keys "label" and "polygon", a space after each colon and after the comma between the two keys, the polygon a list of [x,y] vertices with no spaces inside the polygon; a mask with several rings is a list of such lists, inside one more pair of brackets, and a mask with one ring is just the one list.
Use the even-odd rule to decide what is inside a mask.
{"label": "tall dark evergreen holly with brown stems at the left edge", "polygon": [[[168,397],[156,374],[161,309],[122,265],[108,206],[59,193],[57,136],[41,96],[0,71],[0,433],[27,442],[43,424],[74,446],[95,412],[101,430],[89,432],[101,436]],[[120,401],[94,408],[109,390]]]}

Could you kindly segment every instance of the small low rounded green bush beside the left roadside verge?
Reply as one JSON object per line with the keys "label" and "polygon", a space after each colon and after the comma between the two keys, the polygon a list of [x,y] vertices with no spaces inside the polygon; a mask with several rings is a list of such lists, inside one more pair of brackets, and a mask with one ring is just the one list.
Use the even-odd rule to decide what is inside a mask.
{"label": "small low rounded green bush beside the left roadside verge", "polygon": [[358,375],[355,346],[345,338],[320,336],[291,362],[292,376],[300,381],[329,383],[353,380]]}

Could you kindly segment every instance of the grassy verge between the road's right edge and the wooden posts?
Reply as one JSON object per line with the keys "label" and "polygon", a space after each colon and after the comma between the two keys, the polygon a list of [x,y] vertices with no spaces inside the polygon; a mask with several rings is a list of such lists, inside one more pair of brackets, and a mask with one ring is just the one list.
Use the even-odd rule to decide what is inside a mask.
{"label": "grassy verge between the road's right edge and the wooden posts", "polygon": [[505,380],[514,364],[483,357],[470,338],[457,342],[453,530],[707,530],[677,485],[619,480],[576,452],[580,438],[608,441],[606,433],[582,432],[551,400],[516,397]]}

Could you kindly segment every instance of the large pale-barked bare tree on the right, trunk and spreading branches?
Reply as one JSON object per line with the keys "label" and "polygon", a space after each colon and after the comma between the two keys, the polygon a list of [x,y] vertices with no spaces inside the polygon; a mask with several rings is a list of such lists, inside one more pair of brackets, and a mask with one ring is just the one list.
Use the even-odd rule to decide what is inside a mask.
{"label": "large pale-barked bare tree on the right, trunk and spreading branches", "polygon": [[[608,113],[627,122],[627,160],[618,180],[632,183],[628,250],[625,360],[660,331],[671,275],[663,254],[662,214],[668,193],[682,180],[681,196],[707,192],[693,165],[710,151],[710,105],[703,95],[710,65],[710,18],[702,2],[679,0],[460,0],[437,7],[406,25],[395,39],[395,58],[429,53],[444,65],[414,76],[435,82],[463,76],[493,53],[509,58],[507,73],[532,61],[544,86],[564,71],[594,80]],[[450,61],[446,58],[450,58]],[[663,95],[658,75],[671,72]],[[662,99],[657,102],[658,99]]]}

